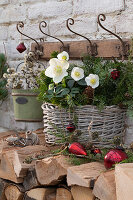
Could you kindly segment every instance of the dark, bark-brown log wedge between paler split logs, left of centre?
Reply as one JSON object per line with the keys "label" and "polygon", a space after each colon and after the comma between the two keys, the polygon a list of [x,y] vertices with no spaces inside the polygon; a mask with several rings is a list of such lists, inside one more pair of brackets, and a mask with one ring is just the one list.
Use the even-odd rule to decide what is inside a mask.
{"label": "dark, bark-brown log wedge between paler split logs, left of centre", "polygon": [[24,178],[23,186],[25,190],[31,190],[32,188],[38,187],[40,184],[36,177],[34,167],[29,168],[26,177]]}

